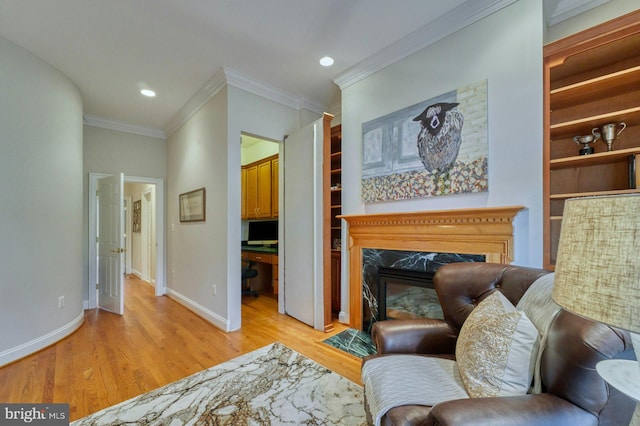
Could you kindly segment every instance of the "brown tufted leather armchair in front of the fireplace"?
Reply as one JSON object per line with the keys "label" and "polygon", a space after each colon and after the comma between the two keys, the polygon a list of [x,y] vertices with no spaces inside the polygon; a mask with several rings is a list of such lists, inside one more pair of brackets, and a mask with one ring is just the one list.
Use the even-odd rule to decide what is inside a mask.
{"label": "brown tufted leather armchair in front of the fireplace", "polygon": [[[389,320],[374,324],[377,354],[412,353],[455,359],[462,324],[481,300],[501,291],[515,306],[533,282],[549,271],[491,263],[441,267],[434,286],[445,320]],[[389,410],[382,425],[626,425],[635,402],[600,378],[604,359],[635,359],[627,332],[561,311],[542,355],[541,394],[454,400],[433,407],[407,405]],[[367,418],[371,413],[365,402]]]}

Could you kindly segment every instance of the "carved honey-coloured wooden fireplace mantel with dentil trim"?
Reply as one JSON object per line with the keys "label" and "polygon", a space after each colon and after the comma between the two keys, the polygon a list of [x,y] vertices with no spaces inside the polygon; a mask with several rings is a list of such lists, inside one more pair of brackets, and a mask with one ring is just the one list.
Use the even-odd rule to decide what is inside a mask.
{"label": "carved honey-coloured wooden fireplace mantel with dentil trim", "polygon": [[362,249],[481,254],[513,260],[513,219],[523,206],[343,215],[348,226],[350,326],[362,329]]}

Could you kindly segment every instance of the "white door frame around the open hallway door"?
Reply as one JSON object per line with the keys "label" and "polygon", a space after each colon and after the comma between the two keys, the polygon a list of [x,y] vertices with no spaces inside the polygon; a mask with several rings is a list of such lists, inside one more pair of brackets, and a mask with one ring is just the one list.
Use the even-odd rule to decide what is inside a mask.
{"label": "white door frame around the open hallway door", "polygon": [[[98,180],[103,177],[111,176],[109,173],[89,173],[89,277],[88,277],[88,303],[87,309],[97,307],[96,297],[96,277],[97,265],[95,259],[96,252],[96,190],[98,188]],[[156,186],[155,212],[156,212],[156,285],[155,295],[162,296],[167,291],[166,282],[166,251],[165,251],[165,190],[164,179],[148,178],[138,176],[124,175],[125,183],[146,183]],[[92,260],[93,259],[93,260]]]}

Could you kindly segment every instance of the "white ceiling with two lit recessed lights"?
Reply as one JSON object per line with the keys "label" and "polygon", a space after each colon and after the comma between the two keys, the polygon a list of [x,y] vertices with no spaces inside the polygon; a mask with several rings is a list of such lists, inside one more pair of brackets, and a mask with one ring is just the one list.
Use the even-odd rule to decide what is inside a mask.
{"label": "white ceiling with two lit recessed lights", "polygon": [[223,67],[326,110],[385,48],[513,1],[0,0],[0,36],[67,75],[85,116],[161,131]]}

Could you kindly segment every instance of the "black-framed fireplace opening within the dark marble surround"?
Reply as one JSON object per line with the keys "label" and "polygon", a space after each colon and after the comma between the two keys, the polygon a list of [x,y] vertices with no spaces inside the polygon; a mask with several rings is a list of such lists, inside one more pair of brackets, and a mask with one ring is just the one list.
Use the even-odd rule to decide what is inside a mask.
{"label": "black-framed fireplace opening within the dark marble surround", "polygon": [[379,267],[378,320],[444,319],[430,271]]}

